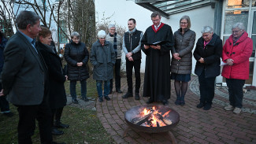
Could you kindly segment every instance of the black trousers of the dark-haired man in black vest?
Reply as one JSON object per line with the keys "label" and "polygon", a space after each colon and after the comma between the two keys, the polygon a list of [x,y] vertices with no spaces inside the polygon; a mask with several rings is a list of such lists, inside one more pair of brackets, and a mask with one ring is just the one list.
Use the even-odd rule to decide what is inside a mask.
{"label": "black trousers of the dark-haired man in black vest", "polygon": [[141,60],[129,61],[126,60],[126,75],[128,83],[128,92],[132,93],[132,68],[135,71],[135,93],[139,93],[140,87],[140,63]]}

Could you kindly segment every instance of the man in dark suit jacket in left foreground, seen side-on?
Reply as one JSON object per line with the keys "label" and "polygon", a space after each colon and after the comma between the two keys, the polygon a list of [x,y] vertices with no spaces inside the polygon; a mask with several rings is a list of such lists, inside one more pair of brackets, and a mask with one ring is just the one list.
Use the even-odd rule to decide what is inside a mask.
{"label": "man in dark suit jacket in left foreground, seen side-on", "polygon": [[17,27],[19,31],[9,39],[4,51],[2,93],[17,106],[19,144],[32,143],[35,119],[39,121],[41,142],[54,143],[46,98],[47,68],[35,48],[35,37],[41,31],[40,17],[31,11],[21,11]]}

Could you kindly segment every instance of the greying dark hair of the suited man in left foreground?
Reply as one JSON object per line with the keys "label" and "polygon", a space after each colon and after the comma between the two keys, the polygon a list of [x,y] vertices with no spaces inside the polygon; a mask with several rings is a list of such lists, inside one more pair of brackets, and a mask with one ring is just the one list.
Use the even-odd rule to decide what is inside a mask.
{"label": "greying dark hair of the suited man in left foreground", "polygon": [[17,16],[17,27],[24,30],[27,28],[28,24],[31,24],[33,26],[38,20],[40,20],[40,17],[36,13],[23,10]]}

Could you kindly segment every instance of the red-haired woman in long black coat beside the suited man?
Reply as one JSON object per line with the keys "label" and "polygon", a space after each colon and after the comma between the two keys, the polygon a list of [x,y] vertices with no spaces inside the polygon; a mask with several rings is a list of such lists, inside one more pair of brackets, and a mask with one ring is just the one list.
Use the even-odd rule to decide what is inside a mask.
{"label": "red-haired woman in long black coat beside the suited man", "polygon": [[[39,32],[39,41],[37,42],[37,49],[43,56],[46,62],[49,73],[49,103],[52,111],[52,134],[62,135],[63,131],[58,131],[56,127],[69,127],[67,124],[61,124],[61,113],[63,107],[67,103],[64,83],[67,76],[63,74],[61,65],[61,58],[58,57],[54,46],[50,46],[52,42],[51,31],[48,28],[42,27]],[[55,124],[54,124],[55,117]],[[55,127],[54,127],[55,126]]]}

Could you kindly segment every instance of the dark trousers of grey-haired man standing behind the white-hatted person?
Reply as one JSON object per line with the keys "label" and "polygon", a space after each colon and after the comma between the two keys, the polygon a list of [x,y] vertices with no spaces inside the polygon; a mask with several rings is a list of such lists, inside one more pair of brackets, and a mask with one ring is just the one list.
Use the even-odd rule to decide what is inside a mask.
{"label": "dark trousers of grey-haired man standing behind the white-hatted person", "polygon": [[[116,63],[114,65],[116,90],[120,90],[121,88],[120,71],[121,71],[121,59],[116,59]],[[110,79],[110,90],[112,89],[113,89],[113,79]]]}

